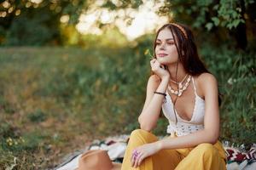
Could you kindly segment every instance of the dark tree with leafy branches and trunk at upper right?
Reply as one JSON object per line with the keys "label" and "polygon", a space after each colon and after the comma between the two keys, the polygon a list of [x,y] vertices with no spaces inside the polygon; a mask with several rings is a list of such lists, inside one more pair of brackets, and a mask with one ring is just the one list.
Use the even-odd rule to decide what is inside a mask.
{"label": "dark tree with leafy branches and trunk at upper right", "polygon": [[228,31],[239,48],[247,48],[247,25],[256,25],[256,3],[252,0],[172,0],[160,8],[160,14],[174,15],[198,30]]}

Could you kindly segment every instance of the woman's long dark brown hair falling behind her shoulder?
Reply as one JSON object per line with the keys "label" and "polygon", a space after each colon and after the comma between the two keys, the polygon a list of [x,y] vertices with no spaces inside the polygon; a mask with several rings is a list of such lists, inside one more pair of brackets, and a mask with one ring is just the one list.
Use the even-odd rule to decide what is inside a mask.
{"label": "woman's long dark brown hair falling behind her shoulder", "polygon": [[[156,36],[154,39],[154,58],[155,56],[155,48],[156,48],[156,40],[160,33],[160,31],[164,29],[169,29],[172,32],[174,44],[177,48],[177,54],[178,59],[180,63],[183,65],[184,70],[189,73],[191,76],[199,76],[202,73],[210,73],[210,71],[207,70],[207,67],[204,65],[204,63],[201,61],[198,52],[197,47],[195,45],[195,39],[193,36],[192,31],[189,29],[188,26],[185,26],[183,24],[175,23],[175,24],[166,24],[164,26],[161,26],[160,29],[156,32]],[[178,66],[178,62],[177,62]],[[176,67],[176,81],[177,81],[177,67]],[[178,88],[177,88],[178,89]],[[173,103],[173,111],[175,111],[175,104],[177,101],[174,99]],[[220,94],[218,93],[218,105],[220,105],[221,99]],[[176,117],[176,123],[177,123],[177,116]]]}

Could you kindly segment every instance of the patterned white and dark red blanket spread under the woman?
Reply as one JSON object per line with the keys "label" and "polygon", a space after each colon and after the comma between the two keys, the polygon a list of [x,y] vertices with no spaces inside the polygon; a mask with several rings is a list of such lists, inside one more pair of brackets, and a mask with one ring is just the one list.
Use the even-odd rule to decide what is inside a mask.
{"label": "patterned white and dark red blanket spread under the woman", "polygon": [[[161,138],[163,137],[159,139]],[[113,136],[104,140],[96,139],[84,150],[75,151],[64,157],[55,170],[76,170],[79,167],[80,156],[87,150],[107,150],[113,162],[122,163],[128,140],[129,135]],[[228,158],[227,170],[256,170],[256,144],[252,144],[250,150],[230,146],[228,142],[223,142],[223,144]]]}

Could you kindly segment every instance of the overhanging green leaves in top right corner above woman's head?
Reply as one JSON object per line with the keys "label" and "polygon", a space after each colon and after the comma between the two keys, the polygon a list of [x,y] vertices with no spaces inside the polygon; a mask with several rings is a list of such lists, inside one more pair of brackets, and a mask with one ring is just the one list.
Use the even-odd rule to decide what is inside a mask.
{"label": "overhanging green leaves in top right corner above woman's head", "polygon": [[[220,0],[219,2],[208,1],[167,1],[160,8],[160,14],[174,14],[176,20],[183,20],[195,28],[206,27],[208,31],[213,26],[224,27],[229,30],[245,23],[244,13],[253,1]],[[242,10],[242,8],[245,8]]]}

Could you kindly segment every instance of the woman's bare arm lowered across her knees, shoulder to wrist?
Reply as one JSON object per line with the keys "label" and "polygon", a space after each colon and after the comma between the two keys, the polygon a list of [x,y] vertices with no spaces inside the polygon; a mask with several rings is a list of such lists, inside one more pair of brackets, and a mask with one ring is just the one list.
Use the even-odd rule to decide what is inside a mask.
{"label": "woman's bare arm lowered across her knees, shoulder to wrist", "polygon": [[219,136],[218,82],[210,73],[198,77],[205,96],[204,129],[172,139],[162,139],[155,144],[159,150],[193,147],[201,143],[215,144]]}

